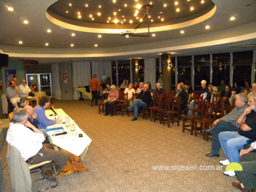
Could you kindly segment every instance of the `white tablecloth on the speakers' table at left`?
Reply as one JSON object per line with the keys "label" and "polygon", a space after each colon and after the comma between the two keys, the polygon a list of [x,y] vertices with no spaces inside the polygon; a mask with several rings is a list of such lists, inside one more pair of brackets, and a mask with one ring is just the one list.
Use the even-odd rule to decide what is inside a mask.
{"label": "white tablecloth on the speakers' table at left", "polygon": [[[68,117],[68,114],[66,114],[62,109],[55,110],[55,112],[58,114],[58,116],[61,116],[64,119],[63,122],[65,122],[65,117]],[[53,114],[53,116],[50,116],[50,114]],[[53,111],[46,110],[46,117],[48,117],[49,119],[54,119]],[[74,122],[73,119],[70,118],[70,122]],[[85,134],[85,132],[83,132],[77,124],[75,124],[75,132],[70,132],[65,127],[65,123],[55,124],[50,127],[63,127],[64,131],[68,132],[68,134],[49,137],[53,144],[59,146],[66,151],[69,151],[72,154],[75,154],[76,156],[80,156],[83,151],[85,151],[87,146],[89,146],[92,142],[92,139],[90,139],[90,137],[88,137],[87,134]],[[78,134],[82,134],[82,137],[78,137]]]}

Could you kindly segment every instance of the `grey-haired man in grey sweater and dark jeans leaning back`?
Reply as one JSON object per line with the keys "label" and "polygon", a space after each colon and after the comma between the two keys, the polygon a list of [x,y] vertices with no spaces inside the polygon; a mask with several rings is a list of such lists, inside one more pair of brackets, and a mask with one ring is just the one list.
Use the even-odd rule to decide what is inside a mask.
{"label": "grey-haired man in grey sweater and dark jeans leaning back", "polygon": [[240,115],[245,112],[247,105],[247,95],[240,93],[235,97],[235,108],[224,117],[216,119],[213,122],[212,129],[204,129],[203,134],[213,134],[213,142],[211,146],[211,153],[206,154],[208,157],[219,157],[220,156],[220,142],[218,134],[220,132],[237,132],[240,124],[236,124],[236,120]]}

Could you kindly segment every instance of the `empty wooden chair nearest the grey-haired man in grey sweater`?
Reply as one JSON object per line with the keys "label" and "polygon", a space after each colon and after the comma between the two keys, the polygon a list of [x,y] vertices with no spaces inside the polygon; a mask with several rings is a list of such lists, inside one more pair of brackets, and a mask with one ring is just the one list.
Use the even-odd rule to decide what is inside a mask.
{"label": "empty wooden chair nearest the grey-haired man in grey sweater", "polygon": [[[208,129],[209,125],[213,124],[215,119],[220,118],[220,113],[218,111],[218,102],[211,102],[206,105],[206,117],[203,119],[195,119],[194,129],[195,129],[195,137],[198,134],[203,136],[203,139],[206,139],[205,134],[202,133],[203,129]],[[200,124],[200,127],[197,124]]]}

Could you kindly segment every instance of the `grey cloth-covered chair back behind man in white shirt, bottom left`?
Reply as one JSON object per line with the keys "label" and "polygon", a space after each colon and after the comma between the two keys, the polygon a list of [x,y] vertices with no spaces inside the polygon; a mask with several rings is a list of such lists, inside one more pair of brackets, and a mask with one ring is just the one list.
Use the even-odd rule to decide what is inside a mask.
{"label": "grey cloth-covered chair back behind man in white shirt, bottom left", "polygon": [[32,191],[31,174],[28,164],[22,159],[21,154],[15,146],[8,145],[7,161],[14,191]]}

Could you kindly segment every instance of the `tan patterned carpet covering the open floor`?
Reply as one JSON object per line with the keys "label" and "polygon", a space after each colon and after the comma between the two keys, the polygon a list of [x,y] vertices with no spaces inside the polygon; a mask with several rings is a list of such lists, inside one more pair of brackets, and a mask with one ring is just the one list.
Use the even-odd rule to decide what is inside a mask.
{"label": "tan patterned carpet covering the open floor", "polygon": [[[90,172],[65,176],[50,191],[238,191],[232,186],[236,177],[223,171],[155,171],[152,166],[219,166],[225,159],[207,158],[211,142],[181,132],[176,124],[167,125],[139,118],[98,114],[90,101],[53,101],[61,107],[92,139],[84,164]],[[1,153],[6,165],[6,150]],[[225,167],[223,166],[223,170]],[[33,176],[35,177],[35,176]],[[11,191],[8,168],[4,169],[4,191]],[[33,184],[34,191],[49,181]]]}

